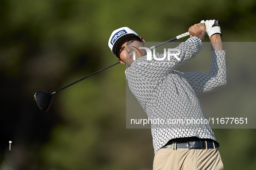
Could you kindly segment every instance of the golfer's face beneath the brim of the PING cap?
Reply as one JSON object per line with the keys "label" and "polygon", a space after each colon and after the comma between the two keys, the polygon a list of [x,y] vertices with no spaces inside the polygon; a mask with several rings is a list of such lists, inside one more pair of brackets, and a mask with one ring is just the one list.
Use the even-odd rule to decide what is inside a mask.
{"label": "golfer's face beneath the brim of the PING cap", "polygon": [[[117,55],[120,56],[120,59],[123,63],[125,63],[127,66],[130,66],[133,63],[133,51],[136,52],[136,48],[139,49],[139,47],[145,47],[145,41],[142,37],[140,37],[140,40],[134,36],[129,36],[126,38],[123,38],[118,44],[117,44]],[[139,57],[142,57],[146,54],[146,50],[139,49],[141,51],[141,54],[135,53],[136,59]],[[138,50],[137,50],[138,51]]]}

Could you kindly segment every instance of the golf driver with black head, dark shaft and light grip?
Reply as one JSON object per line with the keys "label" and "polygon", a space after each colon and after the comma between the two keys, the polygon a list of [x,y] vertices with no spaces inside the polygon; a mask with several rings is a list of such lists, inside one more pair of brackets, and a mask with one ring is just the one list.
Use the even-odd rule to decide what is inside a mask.
{"label": "golf driver with black head, dark shaft and light grip", "polygon": [[[215,21],[215,23],[214,23],[213,26],[219,26],[219,25],[220,25],[220,22],[219,22],[219,21]],[[183,37],[186,37],[186,36],[188,36],[188,35],[190,35],[190,33],[189,33],[189,32],[186,32],[186,33],[184,33],[184,34],[181,34],[181,35],[176,36],[175,38],[169,39],[169,40],[164,41],[164,42],[162,42],[162,43],[160,43],[160,44],[157,44],[157,45],[155,45],[155,46],[152,46],[152,47],[150,47],[149,49],[151,50],[151,49],[153,49],[153,48],[159,47],[159,46],[161,46],[161,45],[163,45],[163,44],[166,44],[166,43],[169,43],[169,42],[171,42],[171,41],[178,40],[178,39],[183,38]],[[88,75],[88,76],[85,76],[84,78],[79,79],[78,81],[73,82],[73,83],[71,83],[70,85],[67,85],[67,86],[65,86],[64,88],[61,88],[61,89],[59,89],[59,90],[57,90],[57,91],[54,91],[54,92],[52,92],[52,93],[51,93],[51,92],[48,92],[48,91],[37,91],[37,92],[34,94],[34,100],[36,101],[36,104],[37,104],[37,106],[39,107],[39,109],[40,109],[41,111],[47,112],[47,111],[49,110],[49,107],[50,107],[51,104],[52,104],[52,96],[53,96],[54,94],[56,94],[58,91],[61,91],[61,90],[65,89],[65,88],[67,88],[67,87],[69,87],[69,86],[71,86],[71,85],[74,85],[75,83],[80,82],[81,80],[84,80],[84,79],[86,79],[86,78],[88,78],[88,77],[90,77],[90,76],[92,76],[92,75],[94,75],[94,74],[96,74],[96,73],[98,73],[98,72],[101,72],[101,71],[103,71],[104,69],[107,69],[107,68],[109,68],[109,67],[111,67],[111,66],[114,66],[114,65],[116,65],[116,64],[118,64],[118,63],[120,63],[120,62],[118,61],[118,62],[113,63],[113,64],[111,64],[111,65],[109,65],[109,66],[107,66],[107,67],[104,67],[103,69],[100,69],[100,70],[98,70],[98,71],[96,71],[96,72],[94,72],[94,73],[92,73],[92,74],[90,74],[90,75]]]}

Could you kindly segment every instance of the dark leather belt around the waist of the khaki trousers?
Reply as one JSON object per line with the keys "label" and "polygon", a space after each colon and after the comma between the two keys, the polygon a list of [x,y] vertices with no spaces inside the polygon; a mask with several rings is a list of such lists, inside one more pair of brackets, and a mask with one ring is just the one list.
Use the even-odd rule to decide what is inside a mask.
{"label": "dark leather belt around the waist of the khaki trousers", "polygon": [[[166,145],[164,145],[162,148],[188,148],[188,149],[203,149],[206,148],[206,141],[188,141],[188,142],[174,142],[174,145],[172,146],[173,142],[168,142]],[[220,145],[217,142],[207,142],[207,148],[218,148]]]}

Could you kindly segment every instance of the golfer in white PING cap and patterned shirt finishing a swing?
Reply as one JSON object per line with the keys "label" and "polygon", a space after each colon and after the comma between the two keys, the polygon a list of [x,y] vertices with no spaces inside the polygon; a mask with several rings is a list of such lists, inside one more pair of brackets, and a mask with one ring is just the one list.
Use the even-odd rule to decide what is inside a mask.
{"label": "golfer in white PING cap and patterned shirt finishing a swing", "polygon": [[[214,21],[191,26],[187,41],[164,54],[152,56],[147,55],[144,39],[130,28],[119,28],[110,36],[108,44],[112,53],[129,66],[125,74],[130,90],[151,120],[165,122],[151,126],[155,152],[153,170],[223,169],[219,143],[209,124],[202,122],[207,118],[197,98],[197,94],[215,91],[227,84],[226,52],[220,27],[213,27]],[[196,57],[206,34],[212,45],[210,72],[175,71]],[[170,123],[169,120],[177,121]]]}

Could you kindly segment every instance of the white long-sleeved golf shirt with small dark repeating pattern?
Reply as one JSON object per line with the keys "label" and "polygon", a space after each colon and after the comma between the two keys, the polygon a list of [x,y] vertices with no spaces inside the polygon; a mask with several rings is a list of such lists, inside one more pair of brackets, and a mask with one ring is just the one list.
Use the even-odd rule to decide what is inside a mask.
{"label": "white long-sleeved golf shirt with small dark repeating pattern", "polygon": [[[196,94],[215,91],[227,84],[226,51],[211,51],[209,73],[174,70],[194,58],[202,47],[203,42],[199,38],[188,38],[176,47],[181,51],[177,56],[180,61],[172,56],[169,60],[166,56],[161,61],[154,57],[147,60],[144,56],[135,60],[125,71],[129,88],[146,115],[151,120],[158,120],[158,123],[153,121],[151,125],[155,152],[176,138],[195,136],[217,142],[209,124],[202,121],[207,118]],[[173,50],[171,53],[178,51]],[[156,54],[156,58],[163,56]],[[159,120],[162,121],[159,123]],[[201,121],[199,123],[196,120]]]}

